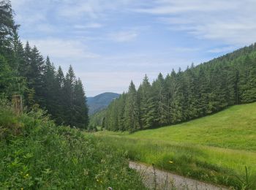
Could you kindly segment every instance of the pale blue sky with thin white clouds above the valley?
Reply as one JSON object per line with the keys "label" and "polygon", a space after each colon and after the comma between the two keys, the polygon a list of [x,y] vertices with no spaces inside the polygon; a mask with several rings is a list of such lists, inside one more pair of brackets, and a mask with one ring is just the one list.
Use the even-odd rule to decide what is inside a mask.
{"label": "pale blue sky with thin white clouds above the valley", "polygon": [[256,0],[11,0],[23,43],[86,96],[127,91],[256,42]]}

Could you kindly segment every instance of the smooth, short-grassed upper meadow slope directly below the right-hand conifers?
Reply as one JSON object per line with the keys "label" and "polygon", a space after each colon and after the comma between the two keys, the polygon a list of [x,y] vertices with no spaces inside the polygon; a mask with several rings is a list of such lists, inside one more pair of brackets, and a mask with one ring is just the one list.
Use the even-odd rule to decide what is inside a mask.
{"label": "smooth, short-grassed upper meadow slope directly below the right-hand conifers", "polygon": [[132,134],[105,133],[256,151],[256,102],[232,106],[214,115],[159,129],[146,129]]}

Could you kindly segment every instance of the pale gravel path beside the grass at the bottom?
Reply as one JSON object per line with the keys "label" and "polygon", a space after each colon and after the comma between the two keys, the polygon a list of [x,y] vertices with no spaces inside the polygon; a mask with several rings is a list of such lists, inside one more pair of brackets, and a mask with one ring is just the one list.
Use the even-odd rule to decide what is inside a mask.
{"label": "pale gravel path beside the grass at the bottom", "polygon": [[[189,190],[219,190],[223,187],[214,186],[209,183],[203,183],[198,180],[192,180],[171,172],[155,169],[146,164],[140,164],[129,161],[129,167],[138,170],[143,176],[143,183],[149,189],[189,189]],[[155,174],[154,174],[155,173]],[[156,177],[155,177],[156,176]],[[227,190],[227,189],[225,189]]]}

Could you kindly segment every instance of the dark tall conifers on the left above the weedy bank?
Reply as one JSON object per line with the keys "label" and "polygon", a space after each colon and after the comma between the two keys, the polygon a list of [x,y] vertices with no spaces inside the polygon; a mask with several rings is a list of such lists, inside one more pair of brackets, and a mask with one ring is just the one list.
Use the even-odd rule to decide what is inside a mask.
{"label": "dark tall conifers on the left above the weedy bank", "polygon": [[37,47],[18,36],[10,1],[0,1],[0,98],[23,96],[27,109],[39,106],[57,124],[86,129],[89,124],[86,94],[72,66],[66,75],[43,58]]}

